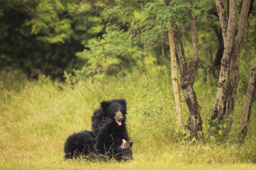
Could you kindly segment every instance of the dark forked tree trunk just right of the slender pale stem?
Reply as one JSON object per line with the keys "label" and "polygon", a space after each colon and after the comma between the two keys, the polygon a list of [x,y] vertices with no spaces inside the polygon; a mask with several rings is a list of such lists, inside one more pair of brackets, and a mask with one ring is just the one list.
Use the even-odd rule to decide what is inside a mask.
{"label": "dark forked tree trunk just right of the slender pale stem", "polygon": [[190,25],[191,25],[191,38],[193,43],[194,58],[190,62],[188,68],[186,63],[186,58],[183,50],[182,40],[180,36],[179,28],[176,26],[175,33],[175,43],[177,48],[177,53],[179,54],[180,63],[180,84],[181,89],[184,94],[184,98],[189,110],[189,119],[187,129],[191,131],[193,137],[198,137],[198,132],[202,131],[202,119],[200,116],[200,109],[197,102],[196,92],[194,91],[193,84],[196,76],[196,70],[199,63],[199,54],[197,49],[196,40],[196,20],[195,16],[188,11],[190,15]]}

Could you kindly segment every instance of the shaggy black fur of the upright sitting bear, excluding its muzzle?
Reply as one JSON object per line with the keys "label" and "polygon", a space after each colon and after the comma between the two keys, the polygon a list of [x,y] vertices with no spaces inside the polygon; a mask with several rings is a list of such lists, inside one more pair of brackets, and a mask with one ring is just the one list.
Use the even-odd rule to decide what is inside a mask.
{"label": "shaggy black fur of the upright sitting bear, excluding its muzzle", "polygon": [[[120,111],[123,119],[121,126],[115,121],[116,113]],[[125,125],[126,102],[124,99],[103,101],[101,107],[92,116],[92,131],[97,140],[95,151],[100,154],[118,153],[122,139],[129,140]]]}

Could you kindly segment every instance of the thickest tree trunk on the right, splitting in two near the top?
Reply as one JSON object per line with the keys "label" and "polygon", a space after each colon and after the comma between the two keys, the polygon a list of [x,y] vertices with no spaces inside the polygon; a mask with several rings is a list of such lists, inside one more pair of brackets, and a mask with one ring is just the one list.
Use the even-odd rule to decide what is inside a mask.
{"label": "thickest tree trunk on the right, splitting in two near the top", "polygon": [[[216,2],[217,1],[219,0],[216,0]],[[226,40],[224,39],[224,53],[221,64],[220,77],[218,82],[216,99],[210,111],[209,124],[211,128],[215,127],[216,129],[212,130],[210,128],[209,131],[211,134],[215,134],[218,130],[220,130],[220,128],[218,128],[216,124],[214,125],[214,120],[217,120],[218,124],[226,124],[226,128],[224,128],[223,130],[224,136],[227,137],[231,129],[234,101],[237,94],[237,86],[239,79],[239,58],[245,34],[249,6],[250,0],[244,0],[240,14],[239,29],[236,39],[237,1],[229,1],[227,35]],[[219,17],[221,18],[221,16]]]}

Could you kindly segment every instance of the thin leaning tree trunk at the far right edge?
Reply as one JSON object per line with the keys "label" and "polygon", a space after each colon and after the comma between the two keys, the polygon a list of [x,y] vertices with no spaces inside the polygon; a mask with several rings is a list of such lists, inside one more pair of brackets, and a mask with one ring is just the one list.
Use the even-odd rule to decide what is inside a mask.
{"label": "thin leaning tree trunk at the far right edge", "polygon": [[250,119],[250,112],[251,112],[251,104],[252,104],[255,88],[256,88],[256,58],[254,59],[254,62],[252,65],[248,88],[247,88],[247,92],[244,99],[244,107],[241,115],[241,124],[240,124],[239,133],[238,133],[239,142],[244,142],[244,139],[247,133],[249,119]]}

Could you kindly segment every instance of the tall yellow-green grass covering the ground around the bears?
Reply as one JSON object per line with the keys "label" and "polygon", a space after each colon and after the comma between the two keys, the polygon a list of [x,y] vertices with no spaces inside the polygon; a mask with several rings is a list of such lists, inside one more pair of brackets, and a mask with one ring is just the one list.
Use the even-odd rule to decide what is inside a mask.
{"label": "tall yellow-green grass covering the ground around the bears", "polygon": [[[44,76],[28,81],[19,72],[2,73],[0,169],[256,169],[255,100],[243,145],[237,144],[236,138],[244,91],[236,100],[233,127],[226,142],[184,141],[177,131],[170,75],[161,71],[153,70],[153,80],[138,71],[106,77],[104,88],[97,81],[81,81],[70,87]],[[198,72],[194,87],[205,132],[216,86],[215,81],[204,83],[203,74]],[[66,138],[74,132],[91,130],[91,116],[100,101],[116,98],[124,98],[128,104],[127,128],[134,141],[134,159],[65,161],[62,150]],[[188,110],[184,102],[182,107]],[[184,119],[188,116],[185,111]]]}

